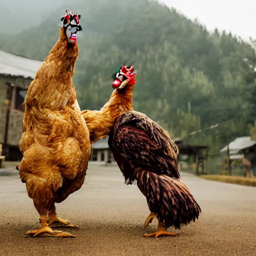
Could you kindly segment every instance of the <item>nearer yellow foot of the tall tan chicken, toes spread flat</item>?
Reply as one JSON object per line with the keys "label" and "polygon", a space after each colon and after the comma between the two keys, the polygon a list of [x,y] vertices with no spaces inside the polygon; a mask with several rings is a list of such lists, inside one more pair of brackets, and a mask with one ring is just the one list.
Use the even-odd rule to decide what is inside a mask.
{"label": "nearer yellow foot of the tall tan chicken, toes spread flat", "polygon": [[39,229],[29,230],[25,234],[30,234],[33,237],[39,234],[55,237],[75,237],[75,235],[70,234],[68,232],[53,231],[48,225],[47,214],[40,215],[40,225],[41,227]]}

